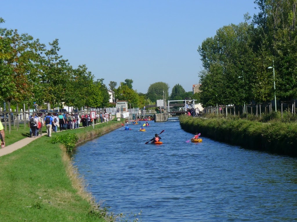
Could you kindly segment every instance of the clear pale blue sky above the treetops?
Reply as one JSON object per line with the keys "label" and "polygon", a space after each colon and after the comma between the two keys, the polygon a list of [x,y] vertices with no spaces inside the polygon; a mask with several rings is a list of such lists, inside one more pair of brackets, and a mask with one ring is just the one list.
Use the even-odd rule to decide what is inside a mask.
{"label": "clear pale blue sky above the treetops", "polygon": [[1,27],[18,29],[48,45],[74,68],[86,64],[95,79],[133,80],[146,93],[152,83],[199,83],[198,46],[224,25],[257,13],[254,0],[2,1]]}

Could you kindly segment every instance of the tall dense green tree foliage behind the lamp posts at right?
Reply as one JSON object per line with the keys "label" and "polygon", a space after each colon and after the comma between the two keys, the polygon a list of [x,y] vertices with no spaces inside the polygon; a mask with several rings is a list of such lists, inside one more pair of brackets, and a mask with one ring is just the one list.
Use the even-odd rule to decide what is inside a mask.
{"label": "tall dense green tree foliage behind the lamp posts at right", "polygon": [[205,106],[270,102],[276,96],[297,96],[297,1],[256,0],[257,15],[244,15],[245,22],[230,24],[206,38],[198,53],[200,98]]}

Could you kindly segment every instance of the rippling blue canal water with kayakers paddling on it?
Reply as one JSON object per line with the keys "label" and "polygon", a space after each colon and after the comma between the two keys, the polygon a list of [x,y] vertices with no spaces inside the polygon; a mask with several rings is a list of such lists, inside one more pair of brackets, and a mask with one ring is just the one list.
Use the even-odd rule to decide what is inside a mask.
{"label": "rippling blue canal water with kayakers paddling on it", "polygon": [[[177,119],[149,123],[145,132],[129,124],[73,153],[88,191],[113,213],[142,211],[143,222],[297,220],[296,158],[203,135],[187,143],[193,135]],[[145,144],[162,130],[163,144]]]}

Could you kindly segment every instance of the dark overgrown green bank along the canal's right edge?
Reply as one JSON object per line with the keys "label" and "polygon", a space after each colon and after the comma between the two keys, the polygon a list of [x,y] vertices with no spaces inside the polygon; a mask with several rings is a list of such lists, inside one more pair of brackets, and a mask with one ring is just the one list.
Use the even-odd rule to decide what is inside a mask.
{"label": "dark overgrown green bank along the canal's right edge", "polygon": [[189,133],[201,133],[211,139],[249,149],[297,156],[297,123],[225,118],[192,118],[182,115],[181,128]]}

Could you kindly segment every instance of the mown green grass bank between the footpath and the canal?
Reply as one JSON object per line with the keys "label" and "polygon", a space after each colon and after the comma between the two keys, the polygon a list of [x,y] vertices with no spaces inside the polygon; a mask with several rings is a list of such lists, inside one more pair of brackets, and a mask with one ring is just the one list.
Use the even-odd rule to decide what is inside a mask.
{"label": "mown green grass bank between the footpath and the canal", "polygon": [[[79,128],[57,135],[76,133],[83,142],[120,126],[120,122],[109,121],[95,129]],[[105,221],[107,212],[94,210],[66,149],[53,144],[51,138],[42,136],[0,157],[0,168],[0,221]]]}

